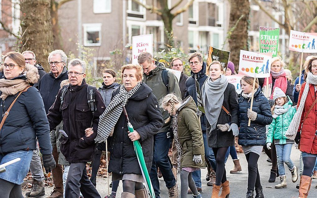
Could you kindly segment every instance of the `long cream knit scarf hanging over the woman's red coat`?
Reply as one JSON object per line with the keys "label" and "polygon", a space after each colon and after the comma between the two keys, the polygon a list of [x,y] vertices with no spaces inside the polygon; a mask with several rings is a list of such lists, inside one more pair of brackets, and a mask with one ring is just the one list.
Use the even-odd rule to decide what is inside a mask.
{"label": "long cream knit scarf hanging over the woman's red coat", "polygon": [[317,75],[312,74],[311,72],[307,72],[307,79],[306,79],[306,85],[303,91],[303,94],[301,95],[301,101],[297,108],[297,111],[293,117],[293,120],[291,124],[288,127],[288,130],[286,132],[286,137],[290,140],[294,140],[298,127],[301,123],[301,114],[303,113],[305,101],[308,95],[309,91],[309,84],[317,85]]}

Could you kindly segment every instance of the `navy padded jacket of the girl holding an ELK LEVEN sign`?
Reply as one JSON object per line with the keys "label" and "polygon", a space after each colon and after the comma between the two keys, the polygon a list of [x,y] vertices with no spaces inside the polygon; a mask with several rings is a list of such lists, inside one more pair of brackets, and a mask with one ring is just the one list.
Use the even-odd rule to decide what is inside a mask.
{"label": "navy padded jacket of the girl holding an ELK LEVEN sign", "polygon": [[248,126],[248,109],[251,105],[251,99],[241,96],[239,102],[239,140],[238,144],[242,146],[265,145],[266,144],[266,125],[271,124],[273,117],[268,99],[263,95],[261,89],[254,93],[252,111],[257,113],[255,121],[251,121]]}

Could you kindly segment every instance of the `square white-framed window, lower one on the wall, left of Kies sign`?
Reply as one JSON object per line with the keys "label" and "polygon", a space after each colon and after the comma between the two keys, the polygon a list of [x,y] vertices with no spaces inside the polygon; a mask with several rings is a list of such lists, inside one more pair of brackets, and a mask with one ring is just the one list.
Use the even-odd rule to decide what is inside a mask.
{"label": "square white-framed window, lower one on the wall, left of Kies sign", "polygon": [[84,26],[84,45],[100,46],[101,45],[101,23],[88,23]]}

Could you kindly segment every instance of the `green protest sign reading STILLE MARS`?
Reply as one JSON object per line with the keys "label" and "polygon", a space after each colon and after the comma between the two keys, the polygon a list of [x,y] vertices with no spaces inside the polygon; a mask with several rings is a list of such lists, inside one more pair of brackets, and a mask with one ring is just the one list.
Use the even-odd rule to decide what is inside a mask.
{"label": "green protest sign reading STILLE MARS", "polygon": [[273,57],[277,56],[279,35],[279,28],[260,27],[259,51],[272,52]]}

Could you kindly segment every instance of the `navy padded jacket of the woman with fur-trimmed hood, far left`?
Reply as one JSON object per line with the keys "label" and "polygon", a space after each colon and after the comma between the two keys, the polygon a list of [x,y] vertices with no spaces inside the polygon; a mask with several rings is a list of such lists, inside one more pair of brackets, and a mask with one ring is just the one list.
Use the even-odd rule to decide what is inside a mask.
{"label": "navy padded jacket of the woman with fur-trimmed hood, far left", "polygon": [[[19,76],[15,79],[25,79],[25,76]],[[0,100],[1,120],[4,112],[8,110],[18,94]],[[43,100],[39,91],[32,86],[19,96],[4,122],[0,131],[0,153],[36,150],[36,137],[41,153],[51,154],[49,122],[46,118]]]}

